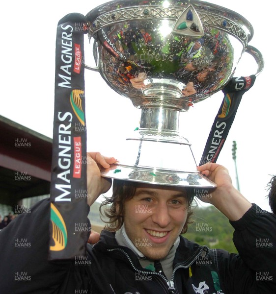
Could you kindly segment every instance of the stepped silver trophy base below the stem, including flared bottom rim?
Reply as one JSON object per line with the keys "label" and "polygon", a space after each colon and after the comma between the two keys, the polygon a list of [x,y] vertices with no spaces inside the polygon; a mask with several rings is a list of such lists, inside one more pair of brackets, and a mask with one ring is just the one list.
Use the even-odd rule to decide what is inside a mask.
{"label": "stepped silver trophy base below the stem, including flared bottom rim", "polygon": [[[150,112],[150,121],[153,124],[154,114],[154,110]],[[169,114],[172,118],[172,113]],[[144,115],[142,113],[142,121]],[[172,123],[169,125],[171,128],[174,126],[173,121],[169,120],[169,123]],[[121,155],[116,157],[120,162],[103,171],[102,176],[140,183],[196,188],[195,190],[216,187],[215,183],[197,171],[191,144],[180,136],[177,130],[139,128],[126,139],[120,153]]]}

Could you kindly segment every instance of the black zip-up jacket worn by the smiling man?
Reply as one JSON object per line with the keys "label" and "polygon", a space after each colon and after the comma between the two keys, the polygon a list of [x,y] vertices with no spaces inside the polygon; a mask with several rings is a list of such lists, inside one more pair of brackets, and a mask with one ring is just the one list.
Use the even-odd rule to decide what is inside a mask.
{"label": "black zip-up jacket worn by the smiling man", "polygon": [[[117,245],[108,231],[96,245],[87,244],[87,256],[48,262],[49,220],[48,199],[0,231],[1,294],[276,293],[276,216],[256,205],[231,222],[239,255],[181,237],[173,282],[162,269],[142,269],[135,254]],[[27,245],[15,248],[16,239]]]}

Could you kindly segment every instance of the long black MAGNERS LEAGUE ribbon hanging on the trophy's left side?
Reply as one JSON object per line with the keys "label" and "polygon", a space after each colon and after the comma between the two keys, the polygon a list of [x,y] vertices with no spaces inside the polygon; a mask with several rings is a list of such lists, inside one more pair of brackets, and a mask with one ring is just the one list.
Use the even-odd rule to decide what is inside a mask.
{"label": "long black MAGNERS LEAGUE ribbon hanging on the trophy's left side", "polygon": [[[57,26],[49,260],[85,254],[87,222],[84,16]],[[89,227],[88,227],[89,226]]]}

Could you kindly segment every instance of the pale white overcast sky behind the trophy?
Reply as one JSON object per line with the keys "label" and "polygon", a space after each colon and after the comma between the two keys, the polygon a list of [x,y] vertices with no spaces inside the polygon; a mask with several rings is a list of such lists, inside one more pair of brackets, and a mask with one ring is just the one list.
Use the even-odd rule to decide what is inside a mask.
{"label": "pale white overcast sky behind the trophy", "polygon": [[[1,11],[0,115],[52,138],[55,88],[55,38],[58,21],[68,13],[87,14],[103,0],[5,1]],[[246,93],[217,163],[228,168],[236,184],[232,141],[237,142],[241,192],[269,209],[267,183],[276,173],[275,109],[272,77],[275,73],[274,11],[267,0],[210,0],[235,10],[254,27],[250,45],[259,49],[265,68]],[[85,52],[87,54],[87,52]],[[247,54],[244,54],[247,55]],[[253,74],[255,61],[244,58],[235,76]],[[85,73],[87,148],[112,156],[126,134],[139,126],[140,111],[120,97],[100,74]],[[181,114],[180,130],[192,144],[197,164],[219,110],[222,92]],[[114,150],[114,151],[112,151]]]}

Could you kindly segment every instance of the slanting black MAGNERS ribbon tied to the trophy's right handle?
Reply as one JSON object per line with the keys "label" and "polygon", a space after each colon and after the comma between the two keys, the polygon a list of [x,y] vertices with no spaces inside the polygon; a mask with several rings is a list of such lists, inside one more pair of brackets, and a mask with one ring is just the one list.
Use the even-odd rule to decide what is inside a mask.
{"label": "slanting black MAGNERS ribbon tied to the trophy's right handle", "polygon": [[255,79],[255,75],[233,77],[222,90],[224,98],[212,125],[199,165],[217,161],[242,97],[253,86]]}

